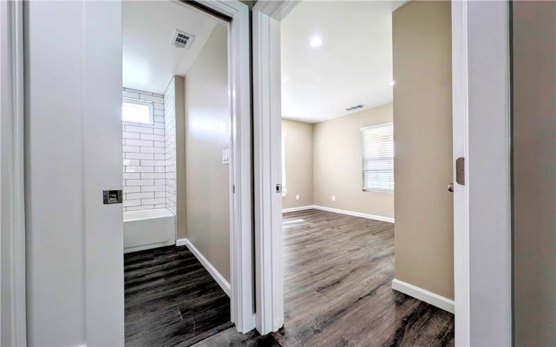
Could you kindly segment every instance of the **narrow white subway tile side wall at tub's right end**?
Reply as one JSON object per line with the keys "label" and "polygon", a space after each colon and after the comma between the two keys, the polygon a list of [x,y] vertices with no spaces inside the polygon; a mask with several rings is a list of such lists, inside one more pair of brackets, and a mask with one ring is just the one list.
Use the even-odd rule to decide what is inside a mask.
{"label": "narrow white subway tile side wall at tub's right end", "polygon": [[[176,214],[176,88],[174,78],[164,92],[165,205]],[[156,146],[156,145],[155,145]]]}

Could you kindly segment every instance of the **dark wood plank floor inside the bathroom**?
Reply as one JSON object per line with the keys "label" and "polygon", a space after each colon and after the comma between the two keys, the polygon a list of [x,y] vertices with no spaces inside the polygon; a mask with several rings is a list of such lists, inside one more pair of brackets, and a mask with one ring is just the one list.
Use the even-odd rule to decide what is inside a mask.
{"label": "dark wood plank floor inside the bathroom", "polygon": [[231,328],[230,301],[186,246],[124,255],[126,346],[190,346]]}

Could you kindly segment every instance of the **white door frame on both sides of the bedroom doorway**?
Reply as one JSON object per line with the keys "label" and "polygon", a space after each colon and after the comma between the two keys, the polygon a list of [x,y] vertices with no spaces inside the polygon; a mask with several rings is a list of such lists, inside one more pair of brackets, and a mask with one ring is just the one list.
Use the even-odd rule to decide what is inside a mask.
{"label": "white door frame on both sides of the bedroom doorway", "polygon": [[[281,182],[280,21],[295,5],[261,0],[253,8],[256,327],[261,334],[284,323],[281,194],[275,193]],[[454,192],[457,346],[511,341],[507,8],[507,1],[452,0],[454,159],[465,158],[467,176],[466,185],[455,184]],[[496,291],[490,291],[492,285]]]}

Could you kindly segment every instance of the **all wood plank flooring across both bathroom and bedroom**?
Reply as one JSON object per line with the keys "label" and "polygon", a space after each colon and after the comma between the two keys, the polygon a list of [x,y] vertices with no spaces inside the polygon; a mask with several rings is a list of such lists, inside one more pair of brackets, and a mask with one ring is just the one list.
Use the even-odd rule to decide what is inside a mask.
{"label": "all wood plank flooring across both bathroom and bedroom", "polygon": [[284,214],[284,328],[265,336],[231,326],[187,248],[126,255],[126,346],[453,346],[452,314],[391,289],[393,236],[382,221]]}

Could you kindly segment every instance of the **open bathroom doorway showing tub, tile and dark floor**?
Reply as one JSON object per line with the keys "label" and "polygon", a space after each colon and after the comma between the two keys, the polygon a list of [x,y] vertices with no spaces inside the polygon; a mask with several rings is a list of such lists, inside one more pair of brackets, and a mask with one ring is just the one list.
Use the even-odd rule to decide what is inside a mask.
{"label": "open bathroom doorway showing tub, tile and dark floor", "polygon": [[188,4],[122,3],[126,346],[234,329],[227,38]]}

